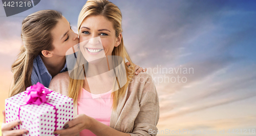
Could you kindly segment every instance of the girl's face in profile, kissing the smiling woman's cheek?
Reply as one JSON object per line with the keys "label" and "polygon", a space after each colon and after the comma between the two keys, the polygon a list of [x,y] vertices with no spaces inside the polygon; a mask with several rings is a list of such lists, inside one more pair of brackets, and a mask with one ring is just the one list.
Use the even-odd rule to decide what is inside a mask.
{"label": "girl's face in profile, kissing the smiling woman's cheek", "polygon": [[69,21],[62,16],[51,32],[54,49],[49,51],[55,56],[66,56],[69,48],[79,43],[78,35],[71,29]]}

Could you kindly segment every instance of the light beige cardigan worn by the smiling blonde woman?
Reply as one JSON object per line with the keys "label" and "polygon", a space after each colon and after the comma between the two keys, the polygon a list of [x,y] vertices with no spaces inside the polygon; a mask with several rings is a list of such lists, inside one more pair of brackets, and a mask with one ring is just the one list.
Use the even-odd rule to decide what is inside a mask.
{"label": "light beige cardigan worn by the smiling blonde woman", "polygon": [[[68,86],[69,73],[67,71],[54,76],[49,89],[68,96]],[[77,103],[74,103],[73,110],[75,117],[77,116]],[[110,127],[130,133],[131,136],[156,135],[158,120],[159,99],[154,81],[150,74],[140,72],[132,78],[124,97],[118,102],[116,112],[112,110]]]}

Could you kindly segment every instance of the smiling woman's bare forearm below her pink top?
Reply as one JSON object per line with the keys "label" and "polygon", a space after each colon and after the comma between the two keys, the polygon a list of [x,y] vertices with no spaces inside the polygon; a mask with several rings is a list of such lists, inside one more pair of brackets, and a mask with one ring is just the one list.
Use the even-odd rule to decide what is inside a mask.
{"label": "smiling woman's bare forearm below her pink top", "polygon": [[98,136],[112,136],[112,135],[120,135],[120,136],[131,136],[129,133],[120,132],[110,126],[107,126],[94,118],[91,118],[91,127],[89,128],[94,134]]}

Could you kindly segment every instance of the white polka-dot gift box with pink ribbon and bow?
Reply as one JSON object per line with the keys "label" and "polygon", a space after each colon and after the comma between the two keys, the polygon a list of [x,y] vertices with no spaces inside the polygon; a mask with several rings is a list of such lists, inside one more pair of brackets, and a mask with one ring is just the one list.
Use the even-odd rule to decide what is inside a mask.
{"label": "white polka-dot gift box with pink ribbon and bow", "polygon": [[37,83],[5,100],[6,122],[20,119],[13,129],[26,129],[24,135],[54,135],[73,119],[73,99]]}

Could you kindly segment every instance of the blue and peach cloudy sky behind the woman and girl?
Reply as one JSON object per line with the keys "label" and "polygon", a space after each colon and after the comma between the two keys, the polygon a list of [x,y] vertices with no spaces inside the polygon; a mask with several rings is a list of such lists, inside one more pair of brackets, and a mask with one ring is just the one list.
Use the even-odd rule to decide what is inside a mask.
{"label": "blue and peach cloudy sky behind the woman and girl", "polygon": [[[239,136],[255,135],[256,1],[111,2],[121,10],[129,56],[147,68],[155,81],[160,102],[157,127],[162,130],[158,135],[181,135],[172,130],[186,130],[182,135],[195,135],[193,130],[200,135],[213,135],[210,132],[215,130],[217,135],[234,135],[232,130]],[[23,44],[23,19],[39,10],[57,10],[77,32],[85,3],[42,0],[10,17],[0,6],[2,110],[12,79],[11,65]]]}

